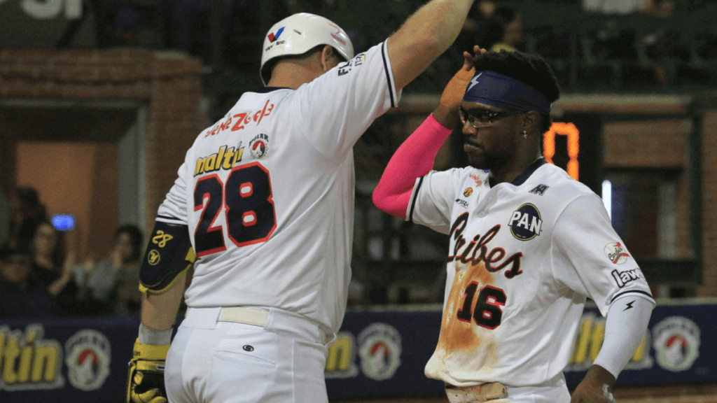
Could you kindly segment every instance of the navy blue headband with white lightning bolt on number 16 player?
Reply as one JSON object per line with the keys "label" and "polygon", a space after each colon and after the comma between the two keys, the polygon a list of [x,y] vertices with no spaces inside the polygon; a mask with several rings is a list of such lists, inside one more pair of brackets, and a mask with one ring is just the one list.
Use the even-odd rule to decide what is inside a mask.
{"label": "navy blue headband with white lightning bolt on number 16 player", "polygon": [[550,115],[550,102],[545,95],[530,85],[492,71],[475,72],[465,89],[463,100],[502,109],[536,110],[541,115]]}

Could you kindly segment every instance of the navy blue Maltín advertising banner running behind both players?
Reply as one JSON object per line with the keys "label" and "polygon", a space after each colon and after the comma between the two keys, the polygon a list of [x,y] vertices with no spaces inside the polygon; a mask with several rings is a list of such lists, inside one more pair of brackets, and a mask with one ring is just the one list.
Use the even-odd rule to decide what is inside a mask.
{"label": "navy blue Malt\u00edn advertising banner running behind both players", "polygon": [[[346,313],[326,362],[331,400],[442,394],[424,365],[440,331],[440,307]],[[717,381],[717,302],[657,305],[617,384]],[[138,318],[0,321],[1,402],[122,402]],[[597,356],[604,318],[586,308],[570,364],[573,388]]]}

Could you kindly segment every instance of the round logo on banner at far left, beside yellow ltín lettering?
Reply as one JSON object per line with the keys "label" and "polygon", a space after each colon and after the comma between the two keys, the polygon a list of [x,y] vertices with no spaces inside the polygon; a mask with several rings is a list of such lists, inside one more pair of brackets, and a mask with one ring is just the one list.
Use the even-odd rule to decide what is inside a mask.
{"label": "round logo on banner at far left, beside yellow lt\u00edn lettering", "polygon": [[92,329],[78,331],[65,343],[67,379],[77,389],[89,392],[100,389],[110,376],[110,341]]}

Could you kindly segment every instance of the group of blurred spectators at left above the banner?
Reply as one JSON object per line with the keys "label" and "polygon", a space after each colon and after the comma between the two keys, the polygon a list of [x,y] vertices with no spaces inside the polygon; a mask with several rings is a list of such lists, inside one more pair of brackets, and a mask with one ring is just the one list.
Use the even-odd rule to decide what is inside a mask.
{"label": "group of blurred spectators at left above the banner", "polygon": [[138,227],[118,227],[108,256],[95,261],[90,254],[77,264],[35,189],[18,187],[9,201],[8,239],[0,245],[0,318],[138,311],[144,246]]}

